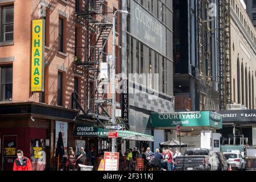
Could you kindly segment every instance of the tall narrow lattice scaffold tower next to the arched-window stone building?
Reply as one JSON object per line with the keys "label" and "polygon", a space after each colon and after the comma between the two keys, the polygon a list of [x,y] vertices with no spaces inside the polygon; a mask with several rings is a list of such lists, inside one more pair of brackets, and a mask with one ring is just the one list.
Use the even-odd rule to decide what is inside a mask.
{"label": "tall narrow lattice scaffold tower next to the arched-window stone building", "polygon": [[231,104],[230,0],[220,0],[220,109]]}

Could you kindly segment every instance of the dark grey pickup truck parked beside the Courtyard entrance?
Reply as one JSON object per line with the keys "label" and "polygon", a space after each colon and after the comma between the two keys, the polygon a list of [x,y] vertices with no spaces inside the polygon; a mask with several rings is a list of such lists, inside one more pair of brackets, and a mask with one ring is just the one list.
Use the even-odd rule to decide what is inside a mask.
{"label": "dark grey pickup truck parked beside the Courtyard entrance", "polygon": [[175,163],[177,171],[216,171],[220,166],[217,155],[207,148],[187,149],[183,156],[176,157]]}

